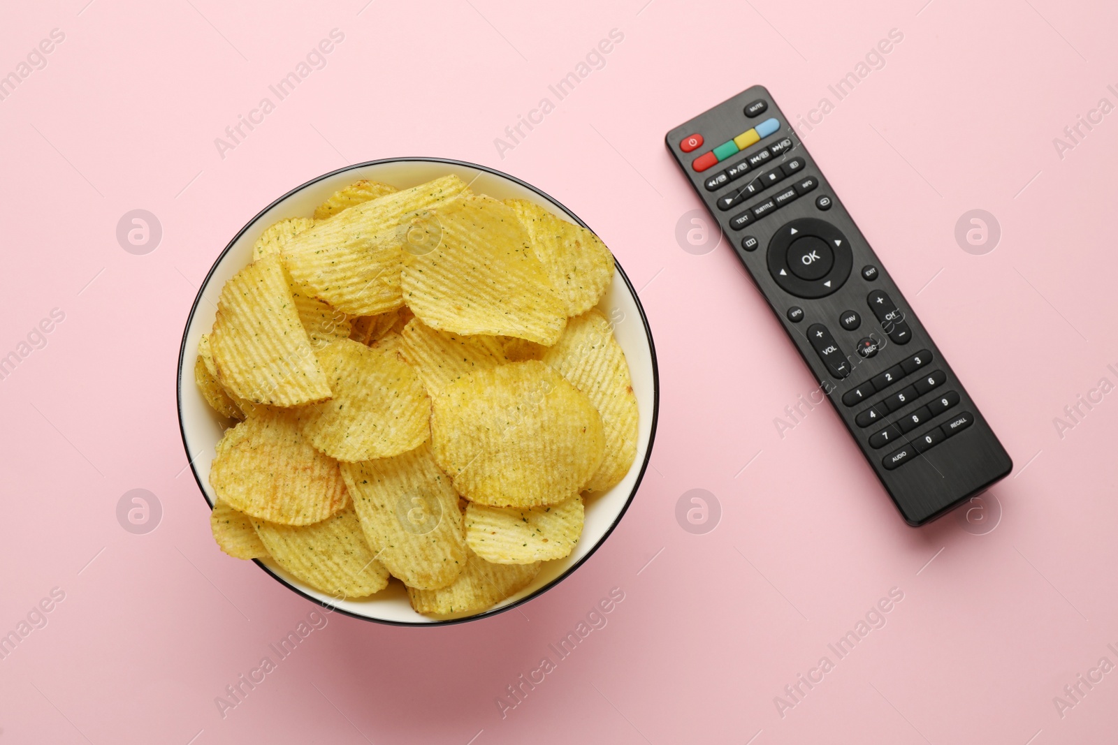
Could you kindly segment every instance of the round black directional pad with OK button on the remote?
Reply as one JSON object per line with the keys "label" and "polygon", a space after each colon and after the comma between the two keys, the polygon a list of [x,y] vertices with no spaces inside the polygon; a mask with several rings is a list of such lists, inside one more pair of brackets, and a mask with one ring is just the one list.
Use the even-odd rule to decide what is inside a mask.
{"label": "round black directional pad with OK button on the remote", "polygon": [[824,220],[793,220],[780,226],[769,241],[769,274],[796,297],[834,293],[850,277],[853,264],[846,236]]}

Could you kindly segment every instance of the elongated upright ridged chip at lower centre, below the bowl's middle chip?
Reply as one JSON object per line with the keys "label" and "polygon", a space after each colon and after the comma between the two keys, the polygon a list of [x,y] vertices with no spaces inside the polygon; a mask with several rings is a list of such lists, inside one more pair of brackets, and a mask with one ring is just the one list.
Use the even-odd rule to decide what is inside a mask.
{"label": "elongated upright ridged chip at lower centre, below the bowl's middle chip", "polygon": [[370,546],[392,576],[434,590],[466,564],[458,495],[424,445],[395,458],[342,464]]}

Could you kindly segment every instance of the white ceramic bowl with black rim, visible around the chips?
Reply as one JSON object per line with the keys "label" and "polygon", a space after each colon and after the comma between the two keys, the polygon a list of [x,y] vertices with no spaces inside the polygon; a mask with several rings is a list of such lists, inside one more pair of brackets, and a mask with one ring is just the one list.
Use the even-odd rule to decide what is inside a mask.
{"label": "white ceramic bowl with black rim, visible around the chips", "polygon": [[[209,408],[195,384],[193,369],[198,340],[214,325],[218,296],[226,280],[252,261],[253,243],[256,238],[277,220],[310,216],[315,206],[330,194],[358,179],[382,181],[405,189],[449,173],[455,173],[470,183],[475,192],[496,199],[529,199],[565,220],[586,225],[542,191],[510,175],[472,163],[429,157],[391,159],[352,165],[309,181],[274,201],[248,221],[214,262],[198,297],[195,298],[182,335],[178,380],[179,427],[195,479],[210,506],[215,499],[214,489],[209,485],[214,446],[221,439],[224,428],[230,422],[224,421]],[[636,459],[628,475],[609,491],[587,499],[582,537],[570,556],[546,562],[534,582],[490,610],[455,619],[429,619],[416,613],[411,610],[407,593],[398,582],[389,583],[388,588],[368,599],[338,600],[307,586],[271,560],[257,560],[256,563],[290,589],[322,605],[370,621],[405,625],[439,625],[493,615],[534,598],[570,575],[609,536],[636,495],[652,452],[660,401],[656,352],[652,343],[652,332],[648,329],[648,322],[637,299],[636,290],[633,289],[620,266],[617,266],[614,281],[598,308],[613,321],[614,335],[628,361],[633,391],[636,393],[641,413],[639,436]]]}

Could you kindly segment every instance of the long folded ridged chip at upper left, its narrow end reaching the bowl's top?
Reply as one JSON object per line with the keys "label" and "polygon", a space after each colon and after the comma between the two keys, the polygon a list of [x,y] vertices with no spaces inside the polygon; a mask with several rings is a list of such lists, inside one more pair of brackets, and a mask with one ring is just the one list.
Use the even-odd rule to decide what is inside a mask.
{"label": "long folded ridged chip at upper left, its narrow end reaching the bowl's top", "polygon": [[461,179],[448,175],[343,210],[284,245],[287,270],[343,313],[370,316],[398,308],[404,304],[401,226],[465,189]]}

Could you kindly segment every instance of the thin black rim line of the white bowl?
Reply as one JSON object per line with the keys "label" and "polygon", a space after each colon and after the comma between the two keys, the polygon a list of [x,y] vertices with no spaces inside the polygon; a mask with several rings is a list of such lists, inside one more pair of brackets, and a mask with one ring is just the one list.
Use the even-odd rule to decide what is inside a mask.
{"label": "thin black rim line of the white bowl", "polygon": [[[240,230],[237,231],[237,235],[235,235],[233,237],[233,239],[229,240],[229,242],[221,250],[221,252],[217,256],[217,258],[214,259],[214,264],[210,266],[209,271],[206,274],[206,278],[202,279],[201,285],[198,287],[198,294],[195,296],[195,302],[190,306],[190,313],[187,314],[187,322],[186,322],[186,325],[182,328],[182,342],[179,345],[179,370],[178,370],[178,375],[176,378],[176,388],[174,388],[176,409],[177,409],[178,416],[179,416],[179,437],[182,440],[182,449],[183,449],[183,451],[186,452],[186,456],[187,456],[187,461],[188,461],[187,465],[190,466],[190,472],[195,477],[195,484],[198,485],[198,493],[201,496],[202,502],[206,503],[206,506],[209,509],[212,510],[214,507],[212,507],[212,505],[209,504],[209,499],[206,497],[206,487],[202,485],[201,478],[199,478],[199,476],[198,476],[198,470],[195,468],[195,461],[190,457],[190,448],[187,446],[187,431],[186,431],[186,426],[183,424],[183,416],[182,416],[182,371],[183,371],[183,361],[186,360],[186,354],[187,354],[187,335],[188,335],[188,333],[190,331],[191,324],[193,323],[195,313],[197,312],[198,306],[199,306],[199,304],[202,300],[202,294],[206,292],[206,288],[209,286],[210,279],[214,277],[214,273],[217,271],[218,266],[225,260],[226,255],[228,255],[229,251],[233,250],[234,245],[240,239],[240,237],[245,233],[245,231],[247,231],[249,229],[249,227],[254,226],[256,223],[256,221],[259,220],[260,217],[265,212],[267,212],[268,210],[271,210],[276,204],[283,202],[287,198],[292,197],[293,194],[295,194],[295,193],[297,193],[297,192],[306,189],[307,187],[311,187],[312,184],[315,184],[315,183],[318,183],[318,182],[320,182],[320,181],[322,181],[324,179],[329,179],[331,176],[338,175],[339,173],[344,173],[347,171],[352,171],[354,169],[366,168],[366,166],[369,166],[369,165],[381,165],[381,164],[385,164],[385,163],[401,163],[401,162],[405,162],[405,163],[406,162],[445,163],[447,165],[459,165],[459,166],[465,166],[465,168],[470,168],[470,169],[476,169],[479,171],[484,171],[486,173],[500,176],[502,179],[508,179],[509,181],[512,181],[512,182],[514,182],[514,183],[517,183],[517,184],[519,184],[519,185],[528,189],[529,191],[536,192],[537,194],[539,194],[540,197],[542,197],[543,199],[548,200],[549,202],[551,202],[552,204],[555,204],[559,209],[561,209],[563,212],[566,212],[567,216],[570,217],[577,225],[581,226],[582,228],[586,228],[587,230],[590,230],[590,227],[588,225],[586,225],[582,221],[581,218],[579,218],[570,209],[568,209],[566,204],[561,203],[559,200],[555,199],[553,197],[551,197],[547,192],[544,192],[544,191],[542,191],[542,190],[533,187],[532,184],[527,183],[525,181],[522,181],[522,180],[518,179],[514,175],[510,175],[508,173],[504,173],[503,171],[498,171],[496,169],[491,169],[491,168],[489,168],[486,165],[480,165],[477,163],[471,163],[468,161],[458,161],[458,160],[454,160],[454,159],[449,159],[449,157],[430,157],[430,156],[411,156],[411,157],[408,157],[408,156],[397,156],[397,157],[383,157],[383,159],[379,159],[379,160],[375,160],[375,161],[364,161],[364,162],[361,162],[361,163],[353,163],[351,165],[347,165],[347,166],[337,169],[334,171],[330,171],[329,173],[323,173],[322,175],[315,176],[315,178],[311,179],[310,181],[306,181],[306,182],[304,182],[304,183],[295,187],[294,189],[291,189],[290,191],[287,191],[283,195],[277,197],[275,200],[273,200],[271,203],[268,203],[264,209],[262,209],[259,212],[257,212],[255,216],[253,216],[248,220],[248,222],[246,222],[245,226]],[[377,618],[370,618],[368,615],[361,615],[360,613],[354,613],[352,611],[348,611],[345,609],[338,608],[337,605],[331,605],[330,603],[328,603],[325,601],[319,600],[318,598],[314,598],[312,595],[306,594],[305,592],[303,592],[299,588],[293,586],[286,580],[284,580],[283,577],[281,577],[280,575],[277,575],[275,572],[273,572],[271,569],[268,569],[263,562],[260,562],[258,558],[252,560],[253,563],[256,564],[262,570],[264,570],[264,572],[266,572],[273,580],[275,580],[276,582],[278,582],[280,584],[282,584],[287,590],[290,590],[290,591],[292,591],[292,592],[301,595],[302,598],[305,598],[306,600],[310,600],[311,602],[313,602],[313,603],[315,603],[318,605],[321,605],[322,608],[326,609],[331,613],[334,613],[334,612],[337,612],[337,613],[343,613],[344,615],[349,615],[349,617],[352,617],[352,618],[356,618],[356,619],[360,619],[362,621],[369,621],[371,623],[381,623],[381,624],[385,624],[385,625],[394,625],[394,627],[430,627],[430,628],[440,628],[440,627],[446,627],[446,625],[455,625],[455,624],[459,624],[459,623],[467,623],[470,621],[480,621],[482,619],[493,618],[494,615],[500,615],[501,613],[504,613],[506,611],[511,611],[514,608],[519,608],[519,606],[523,605],[524,603],[527,603],[530,600],[534,600],[536,598],[539,598],[540,595],[542,595],[543,593],[546,593],[547,591],[551,590],[552,588],[555,588],[556,585],[558,585],[560,582],[562,582],[563,580],[566,580],[568,576],[570,576],[571,574],[574,574],[574,572],[578,567],[580,567],[582,564],[585,564],[586,561],[588,558],[590,558],[590,556],[593,556],[598,551],[598,548],[600,548],[603,546],[603,544],[605,544],[606,539],[609,538],[609,536],[613,534],[614,528],[616,528],[617,525],[622,522],[622,517],[624,517],[625,513],[628,512],[629,505],[633,504],[633,499],[636,497],[636,493],[641,488],[641,483],[644,480],[644,475],[648,470],[648,464],[650,464],[650,461],[652,459],[652,448],[653,448],[653,445],[654,445],[654,442],[656,440],[656,421],[657,421],[657,418],[660,416],[660,369],[659,369],[659,365],[656,363],[656,346],[655,346],[655,344],[653,342],[653,338],[652,338],[652,328],[648,326],[648,317],[645,315],[644,306],[641,304],[641,298],[637,295],[637,290],[633,287],[633,283],[629,281],[628,275],[625,274],[625,270],[620,267],[620,264],[617,262],[616,257],[614,259],[614,268],[617,270],[617,274],[620,276],[622,280],[628,287],[629,294],[633,297],[633,302],[636,305],[637,313],[641,314],[641,323],[644,325],[645,338],[648,342],[648,356],[650,356],[650,359],[652,361],[652,423],[651,423],[651,427],[650,427],[650,430],[648,430],[648,447],[645,450],[644,460],[641,464],[641,470],[639,470],[639,472],[636,476],[636,480],[633,483],[633,488],[629,491],[628,498],[625,500],[624,506],[617,513],[617,516],[614,518],[613,523],[609,525],[609,527],[606,529],[606,532],[601,535],[601,538],[598,539],[598,542],[594,545],[594,547],[590,548],[590,551],[588,551],[586,553],[585,556],[582,556],[581,558],[579,558],[577,562],[575,562],[574,564],[571,564],[569,567],[567,567],[567,570],[562,574],[560,574],[559,576],[557,576],[556,579],[553,579],[551,582],[549,582],[546,585],[543,585],[542,588],[538,589],[532,594],[530,594],[530,595],[528,595],[525,598],[521,598],[517,602],[509,603],[506,605],[502,605],[501,608],[489,609],[489,610],[485,610],[485,611],[483,611],[481,613],[475,613],[473,615],[467,615],[467,617],[464,617],[464,618],[438,619],[438,620],[432,620],[432,621],[391,621],[391,620],[387,620],[387,619],[377,619]]]}

